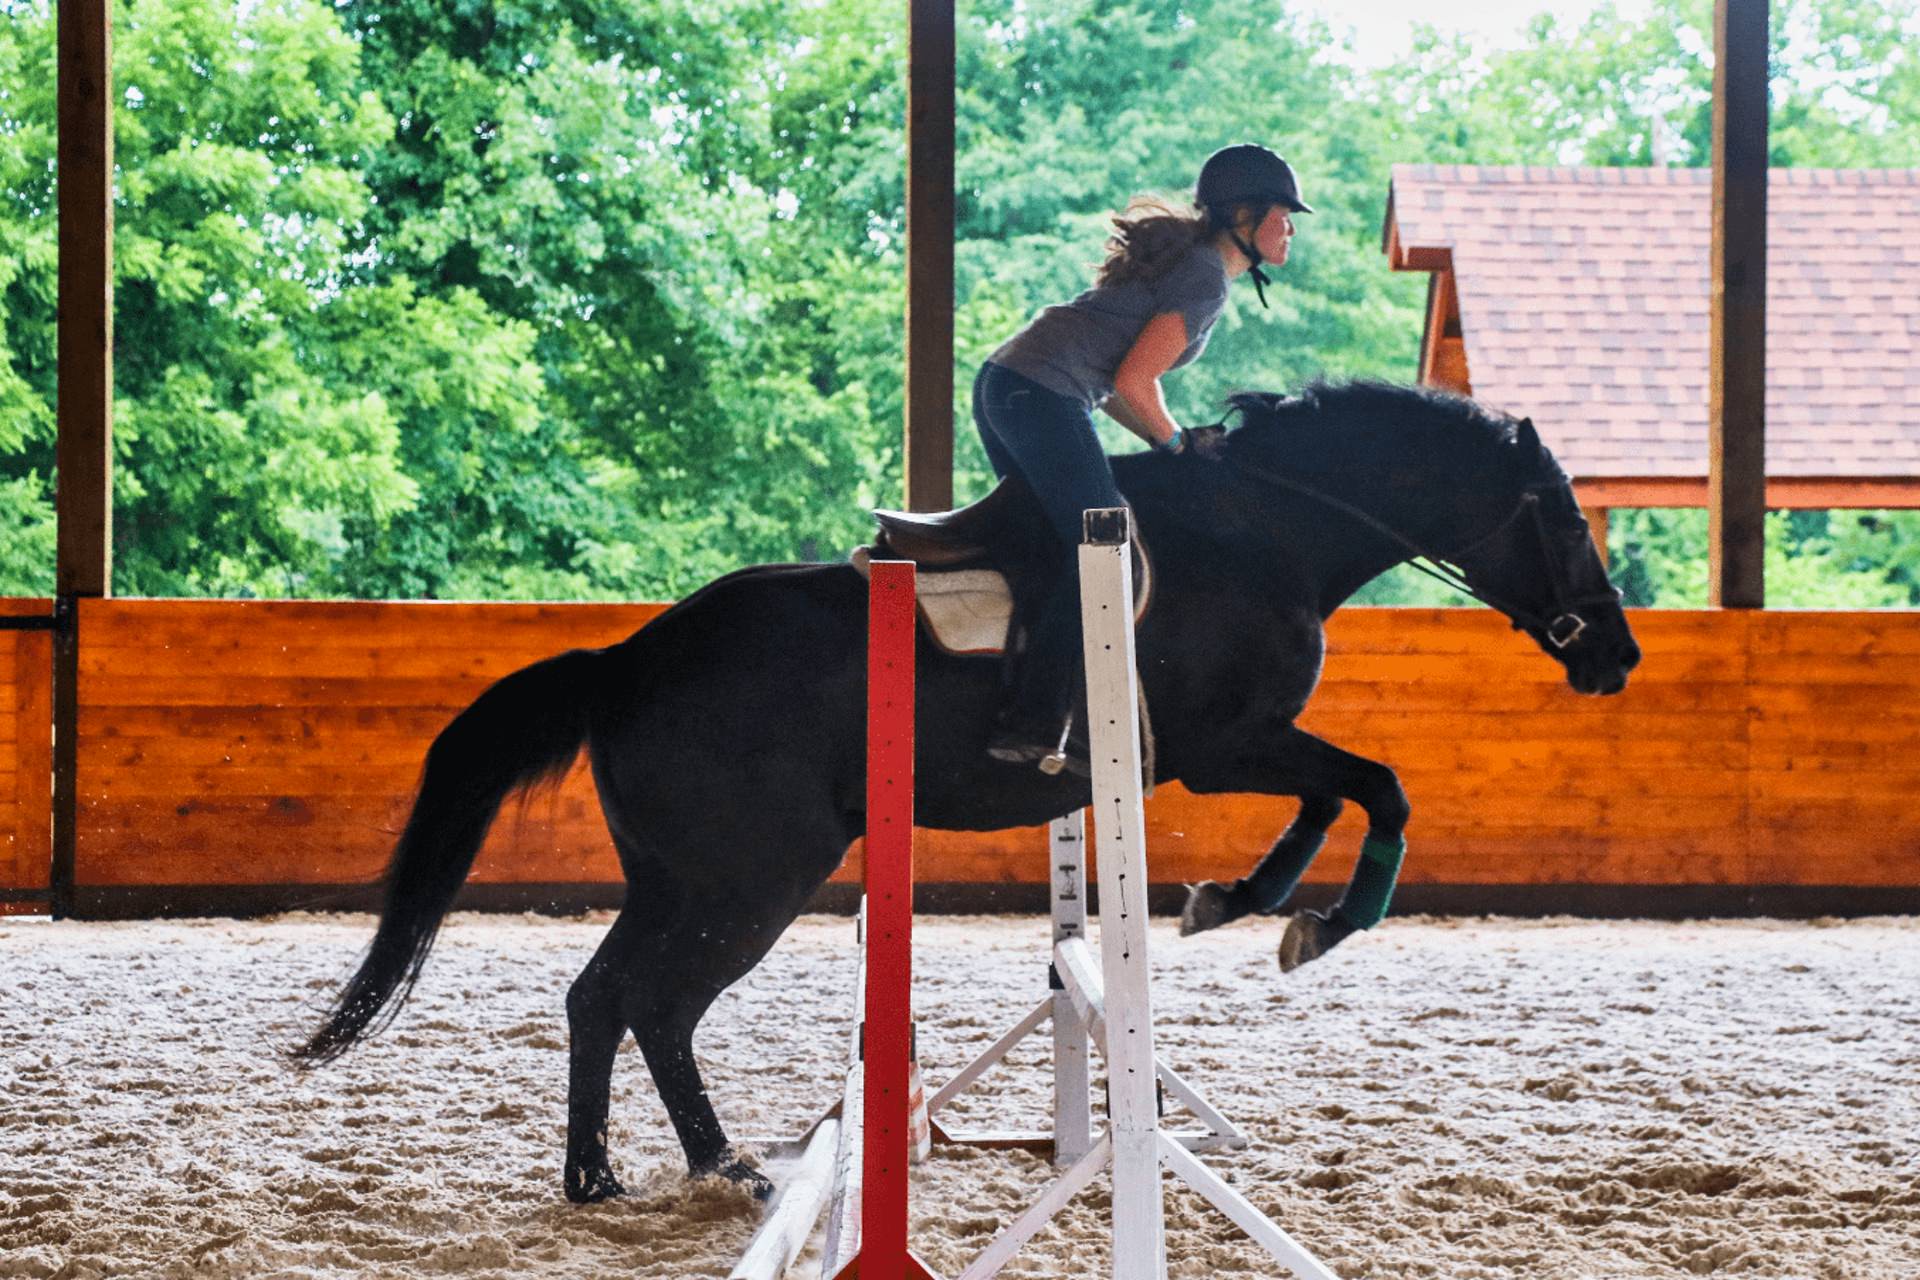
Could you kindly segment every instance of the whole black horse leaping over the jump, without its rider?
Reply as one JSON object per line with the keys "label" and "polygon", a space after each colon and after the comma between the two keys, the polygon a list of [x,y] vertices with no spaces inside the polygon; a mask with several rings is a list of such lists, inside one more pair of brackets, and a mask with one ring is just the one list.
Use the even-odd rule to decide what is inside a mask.
{"label": "whole black horse leaping over the jump, without its rider", "polygon": [[[1139,664],[1156,781],[1300,796],[1273,850],[1235,885],[1202,885],[1187,929],[1277,912],[1342,800],[1398,842],[1394,771],[1294,725],[1319,679],[1323,622],[1413,551],[1465,581],[1567,670],[1617,693],[1640,660],[1567,476],[1528,420],[1384,384],[1238,395],[1219,461],[1114,459],[1152,553]],[[386,873],[386,908],[328,1021],[296,1050],[326,1061],[394,1015],[505,796],[586,747],[628,879],[626,904],[566,996],[572,1034],[566,1196],[620,1192],[607,1161],[614,1052],[632,1032],[687,1165],[764,1190],[728,1146],[693,1057],[714,998],[753,969],[864,823],[866,583],[847,564],[720,578],[620,645],[507,676],[426,754]],[[925,639],[918,821],[947,831],[1043,823],[1089,802],[1085,779],[991,760],[993,658]],[[1296,915],[1292,960],[1344,936]]]}

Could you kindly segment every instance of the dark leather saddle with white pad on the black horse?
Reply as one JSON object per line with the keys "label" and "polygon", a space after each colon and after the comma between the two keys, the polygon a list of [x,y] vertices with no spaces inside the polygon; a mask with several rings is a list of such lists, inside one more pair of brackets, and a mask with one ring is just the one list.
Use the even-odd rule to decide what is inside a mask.
{"label": "dark leather saddle with white pad on the black horse", "polygon": [[[1050,549],[1054,532],[1033,489],[1020,478],[956,510],[876,510],[879,533],[851,560],[862,576],[872,560],[920,566],[920,624],[945,652],[996,656],[1006,651],[1014,618],[1062,583]],[[1135,537],[1135,622],[1146,614],[1152,574],[1146,547]]]}

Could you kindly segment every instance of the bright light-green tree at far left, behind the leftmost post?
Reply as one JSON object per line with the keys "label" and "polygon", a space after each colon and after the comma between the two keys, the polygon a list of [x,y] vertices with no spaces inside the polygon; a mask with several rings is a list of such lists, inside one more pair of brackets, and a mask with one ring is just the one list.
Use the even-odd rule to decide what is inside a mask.
{"label": "bright light-green tree at far left, behind the leftmost post", "polygon": [[[6,77],[21,90],[0,100],[0,240],[25,246],[8,332],[29,340],[13,344],[0,388],[33,388],[42,409],[6,415],[6,480],[31,512],[10,530],[6,568],[10,589],[44,591],[52,560],[12,547],[46,541],[52,21],[38,4],[10,17],[0,65],[27,73]],[[447,415],[486,441],[541,422],[530,334],[457,290],[419,297],[403,278],[355,278],[371,209],[359,169],[392,117],[361,86],[359,48],[330,6],[129,0],[113,52],[115,589],[384,587],[363,576],[378,568],[363,553],[420,503],[407,447],[444,436]],[[432,453],[438,466],[474,464]],[[540,489],[564,455],[534,453],[524,472]],[[551,522],[530,522],[545,537]]]}

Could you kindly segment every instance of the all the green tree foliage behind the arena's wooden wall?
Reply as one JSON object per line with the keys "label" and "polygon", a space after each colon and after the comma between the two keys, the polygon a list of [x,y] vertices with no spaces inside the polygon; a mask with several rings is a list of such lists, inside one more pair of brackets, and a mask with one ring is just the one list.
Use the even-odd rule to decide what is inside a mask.
{"label": "all the green tree foliage behind the arena's wooden wall", "polygon": [[[1791,0],[1774,163],[1920,163],[1912,0]],[[1317,213],[1169,378],[1411,376],[1394,161],[1703,163],[1707,0],[1480,56],[1219,0],[977,0],[958,46],[956,436],[1108,217],[1260,138]],[[54,23],[0,0],[0,589],[52,583]],[[117,0],[115,589],[674,597],[833,558],[897,501],[904,29],[881,0]],[[1110,443],[1129,447],[1114,430]],[[1920,599],[1903,514],[1776,520],[1776,599]],[[1615,518],[1645,601],[1693,518]],[[1692,557],[1692,560],[1688,558]],[[1770,566],[1770,574],[1774,568]],[[1839,583],[1839,585],[1836,585]],[[1384,580],[1367,599],[1438,599]]]}

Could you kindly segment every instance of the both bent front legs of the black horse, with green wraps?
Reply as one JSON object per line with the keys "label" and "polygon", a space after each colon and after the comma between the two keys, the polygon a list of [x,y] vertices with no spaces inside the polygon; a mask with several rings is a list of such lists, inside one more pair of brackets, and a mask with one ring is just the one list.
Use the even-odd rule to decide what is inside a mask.
{"label": "both bent front legs of the black horse, with green wraps", "polygon": [[1386,915],[1405,854],[1407,796],[1390,768],[1304,729],[1286,725],[1254,750],[1183,777],[1188,791],[1300,796],[1300,816],[1250,875],[1233,885],[1196,885],[1181,913],[1183,933],[1215,929],[1252,913],[1279,912],[1292,896],[1340,814],[1340,800],[1367,812],[1367,839],[1346,892],[1331,912],[1296,912],[1281,940],[1281,969],[1292,971],[1325,956],[1359,929]]}

